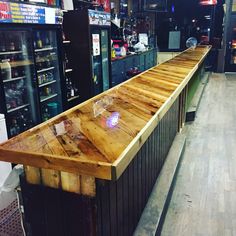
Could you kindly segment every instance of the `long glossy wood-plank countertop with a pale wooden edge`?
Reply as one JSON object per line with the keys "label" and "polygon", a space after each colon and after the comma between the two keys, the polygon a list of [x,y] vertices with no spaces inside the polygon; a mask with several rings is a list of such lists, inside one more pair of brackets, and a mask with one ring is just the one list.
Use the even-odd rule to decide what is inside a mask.
{"label": "long glossy wood-plank countertop with a pale wooden edge", "polygon": [[209,50],[188,49],[8,140],[0,145],[0,160],[54,171],[54,176],[62,171],[116,180]]}

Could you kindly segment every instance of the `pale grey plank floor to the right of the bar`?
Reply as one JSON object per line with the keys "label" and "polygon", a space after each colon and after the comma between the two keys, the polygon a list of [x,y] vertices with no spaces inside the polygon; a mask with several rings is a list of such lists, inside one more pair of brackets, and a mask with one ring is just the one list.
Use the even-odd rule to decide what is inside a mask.
{"label": "pale grey plank floor to the right of the bar", "polygon": [[236,75],[212,74],[161,236],[236,235]]}

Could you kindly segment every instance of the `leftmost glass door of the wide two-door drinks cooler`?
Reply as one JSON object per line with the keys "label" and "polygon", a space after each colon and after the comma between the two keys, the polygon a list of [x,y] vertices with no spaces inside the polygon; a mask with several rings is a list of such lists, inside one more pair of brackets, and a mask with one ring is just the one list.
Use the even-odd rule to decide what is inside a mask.
{"label": "leftmost glass door of the wide two-door drinks cooler", "polygon": [[37,124],[33,89],[34,60],[31,34],[24,30],[0,31],[0,66],[9,137]]}

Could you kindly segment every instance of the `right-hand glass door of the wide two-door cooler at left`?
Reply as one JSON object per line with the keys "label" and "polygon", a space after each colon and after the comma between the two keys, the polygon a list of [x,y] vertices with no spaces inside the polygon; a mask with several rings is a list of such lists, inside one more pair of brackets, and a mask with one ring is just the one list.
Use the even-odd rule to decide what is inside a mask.
{"label": "right-hand glass door of the wide two-door cooler at left", "polygon": [[62,112],[57,48],[56,31],[34,31],[34,54],[42,121]]}

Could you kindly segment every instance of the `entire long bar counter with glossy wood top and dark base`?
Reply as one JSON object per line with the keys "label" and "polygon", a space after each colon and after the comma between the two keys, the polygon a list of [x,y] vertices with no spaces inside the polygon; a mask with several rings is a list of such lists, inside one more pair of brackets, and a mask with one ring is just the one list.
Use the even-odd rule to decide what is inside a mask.
{"label": "entire long bar counter with glossy wood top and dark base", "polygon": [[[71,197],[75,202],[79,199],[78,211],[83,208],[88,214],[80,221],[84,233],[78,229],[68,235],[131,235],[184,122],[187,84],[209,50],[209,46],[190,48],[0,145],[0,160],[25,166],[25,194],[29,188],[37,192],[34,195],[31,189],[26,197],[28,218],[34,218],[30,208],[37,205],[35,199],[46,194],[36,186],[46,186],[62,189],[62,195],[76,193]],[[88,196],[86,202],[83,196]],[[60,197],[59,205],[71,201],[67,195],[66,199]],[[67,230],[72,227],[73,221],[60,221]],[[43,216],[40,222],[44,223],[32,223],[31,230],[37,232],[48,224]],[[67,235],[64,228],[53,233]],[[49,231],[37,235],[50,235]]]}

